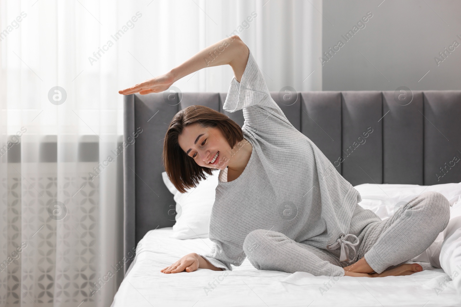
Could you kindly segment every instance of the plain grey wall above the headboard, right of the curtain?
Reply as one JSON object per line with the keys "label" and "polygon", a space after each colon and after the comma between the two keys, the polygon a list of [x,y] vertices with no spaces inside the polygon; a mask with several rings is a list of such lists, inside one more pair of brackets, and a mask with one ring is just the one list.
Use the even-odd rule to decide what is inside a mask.
{"label": "plain grey wall above the headboard, right of the curtain", "polygon": [[[365,28],[346,41],[341,35],[367,12]],[[461,89],[461,1],[324,0],[322,13],[322,52],[344,43],[325,58],[324,91]],[[437,66],[454,41],[460,46]]]}

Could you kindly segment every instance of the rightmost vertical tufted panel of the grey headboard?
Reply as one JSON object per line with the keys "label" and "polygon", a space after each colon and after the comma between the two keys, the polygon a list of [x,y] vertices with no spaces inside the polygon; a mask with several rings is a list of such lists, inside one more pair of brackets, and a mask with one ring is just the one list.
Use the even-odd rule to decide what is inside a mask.
{"label": "rightmost vertical tufted panel of the grey headboard", "polygon": [[461,92],[425,91],[423,95],[424,185],[460,182]]}

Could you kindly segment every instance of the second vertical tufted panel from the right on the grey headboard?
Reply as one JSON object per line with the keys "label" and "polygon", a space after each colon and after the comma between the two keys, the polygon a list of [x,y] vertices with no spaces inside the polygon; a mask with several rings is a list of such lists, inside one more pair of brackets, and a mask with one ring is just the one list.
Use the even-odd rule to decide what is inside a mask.
{"label": "second vertical tufted panel from the right on the grey headboard", "polygon": [[423,185],[423,94],[405,99],[383,92],[383,183]]}

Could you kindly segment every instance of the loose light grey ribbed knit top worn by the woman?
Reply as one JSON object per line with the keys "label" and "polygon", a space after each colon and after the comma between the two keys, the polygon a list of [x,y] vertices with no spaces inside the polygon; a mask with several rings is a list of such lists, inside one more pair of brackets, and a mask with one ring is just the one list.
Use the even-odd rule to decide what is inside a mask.
{"label": "loose light grey ribbed knit top worn by the woman", "polygon": [[[201,256],[213,266],[232,270],[231,265],[240,266],[245,259],[243,241],[255,229],[282,232],[320,249],[335,243],[340,234],[348,234],[351,218],[360,207],[359,192],[288,121],[271,98],[251,52],[241,83],[232,79],[223,108],[243,109],[243,136],[253,151],[238,178],[218,182],[208,232],[214,245]],[[359,208],[356,214],[363,210]],[[354,220],[363,225],[380,220],[370,212]],[[280,257],[293,261],[290,255]],[[315,275],[344,274],[343,268],[333,264],[304,261],[312,262]]]}

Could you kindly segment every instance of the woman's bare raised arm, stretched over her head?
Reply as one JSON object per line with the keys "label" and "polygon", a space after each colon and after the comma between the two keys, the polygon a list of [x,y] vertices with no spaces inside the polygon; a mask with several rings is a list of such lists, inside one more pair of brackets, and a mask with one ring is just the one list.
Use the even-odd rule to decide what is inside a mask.
{"label": "woman's bare raised arm, stretched over her head", "polygon": [[173,68],[164,75],[148,79],[132,87],[118,91],[119,94],[159,93],[167,90],[171,84],[197,70],[210,66],[229,64],[234,70],[237,81],[241,81],[248,60],[248,47],[237,35],[225,38],[197,52],[183,64]]}

